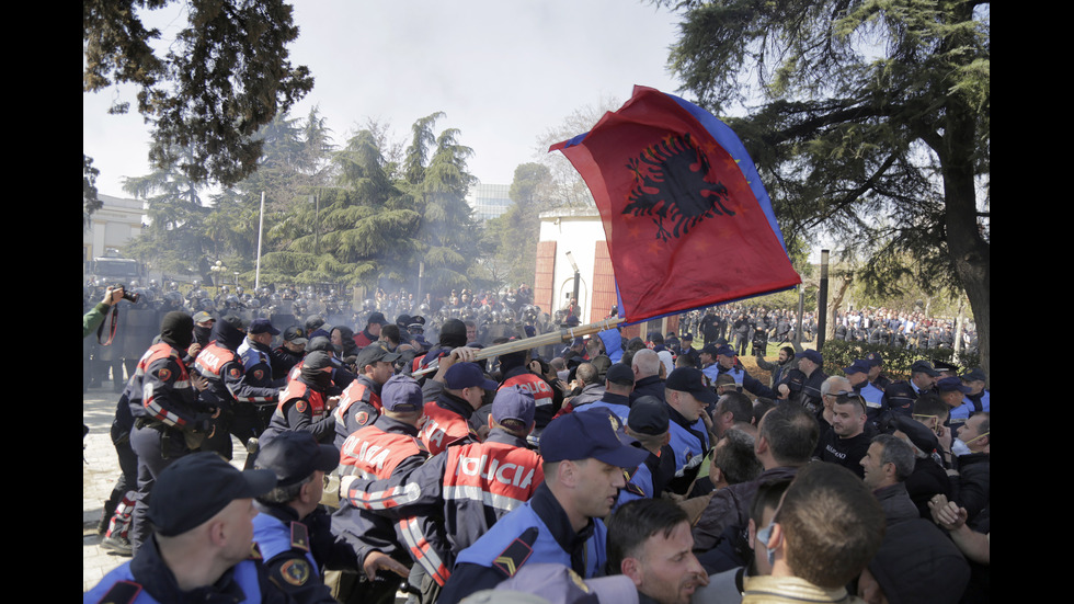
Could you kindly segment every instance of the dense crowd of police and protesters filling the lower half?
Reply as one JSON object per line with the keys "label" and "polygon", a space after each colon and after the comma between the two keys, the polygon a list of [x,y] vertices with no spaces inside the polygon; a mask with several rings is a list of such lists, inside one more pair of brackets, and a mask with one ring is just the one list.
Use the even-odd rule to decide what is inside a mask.
{"label": "dense crowd of police and protesters filling the lower half", "polygon": [[[85,602],[989,600],[980,369],[786,346],[753,376],[740,330],[795,323],[759,308],[753,333],[717,307],[532,349],[578,316],[525,287],[354,311],[134,292],[87,294],[83,386],[118,395],[102,545],[130,560]],[[847,326],[934,327],[891,315]]]}

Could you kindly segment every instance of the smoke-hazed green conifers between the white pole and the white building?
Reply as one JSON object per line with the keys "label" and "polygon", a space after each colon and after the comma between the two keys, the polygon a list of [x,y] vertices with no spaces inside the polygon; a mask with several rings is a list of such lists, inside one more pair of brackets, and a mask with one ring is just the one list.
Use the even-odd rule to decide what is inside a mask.
{"label": "smoke-hazed green conifers between the white pole and the white building", "polygon": [[400,166],[385,159],[382,149],[395,147],[382,126],[354,135],[333,156],[331,182],[313,186],[313,201],[296,201],[276,224],[286,243],[265,254],[266,278],[416,288],[423,261],[426,289],[470,286],[472,151],[458,144],[457,129],[435,133],[442,115],[414,123]]}

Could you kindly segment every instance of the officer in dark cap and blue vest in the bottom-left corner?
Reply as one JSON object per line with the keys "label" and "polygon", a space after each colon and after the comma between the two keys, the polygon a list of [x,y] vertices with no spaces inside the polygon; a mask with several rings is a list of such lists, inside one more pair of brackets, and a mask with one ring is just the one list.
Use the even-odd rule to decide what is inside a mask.
{"label": "officer in dark cap and blue vest in the bottom-left corner", "polygon": [[149,503],[153,535],[82,602],[293,602],[253,547],[253,498],[275,483],[271,471],[240,471],[215,453],[176,460]]}

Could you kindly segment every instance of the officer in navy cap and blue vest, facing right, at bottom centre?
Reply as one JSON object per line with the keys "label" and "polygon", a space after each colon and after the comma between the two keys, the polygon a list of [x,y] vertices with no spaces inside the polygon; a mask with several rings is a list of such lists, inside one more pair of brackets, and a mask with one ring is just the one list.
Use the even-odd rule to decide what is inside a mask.
{"label": "officer in navy cap and blue vest, facing right, at bottom centre", "polygon": [[630,442],[618,418],[602,410],[552,420],[540,438],[545,482],[459,554],[437,602],[455,604],[527,562],[561,563],[586,579],[604,574],[607,531],[601,518],[627,483],[624,469],[649,455]]}

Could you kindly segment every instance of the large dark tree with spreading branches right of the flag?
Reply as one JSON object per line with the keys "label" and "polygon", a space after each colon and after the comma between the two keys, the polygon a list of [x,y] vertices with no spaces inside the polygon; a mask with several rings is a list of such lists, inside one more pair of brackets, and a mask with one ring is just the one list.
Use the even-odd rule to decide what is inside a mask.
{"label": "large dark tree with spreading branches right of the flag", "polygon": [[[963,290],[990,328],[990,7],[686,0],[670,64],[727,118],[785,235],[837,238],[880,294]],[[745,103],[751,106],[744,106]],[[887,288],[887,292],[886,292]]]}

